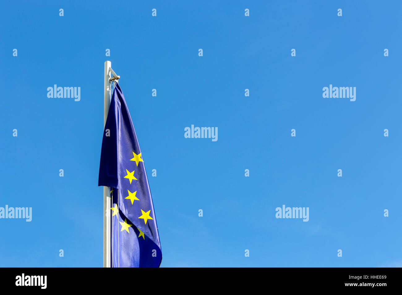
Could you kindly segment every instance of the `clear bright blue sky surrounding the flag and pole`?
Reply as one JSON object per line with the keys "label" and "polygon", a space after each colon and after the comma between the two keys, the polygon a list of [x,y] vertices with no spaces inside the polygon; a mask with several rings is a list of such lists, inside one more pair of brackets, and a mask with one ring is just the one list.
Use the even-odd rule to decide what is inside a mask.
{"label": "clear bright blue sky surrounding the flag and pole", "polygon": [[[32,207],[32,221],[0,219],[0,266],[102,266],[106,60],[161,267],[402,266],[401,13],[399,1],[4,2],[0,207]],[[48,98],[54,84],[80,101]],[[330,84],[356,100],[323,98]],[[185,138],[191,124],[218,140]],[[282,205],[309,221],[275,218]]]}

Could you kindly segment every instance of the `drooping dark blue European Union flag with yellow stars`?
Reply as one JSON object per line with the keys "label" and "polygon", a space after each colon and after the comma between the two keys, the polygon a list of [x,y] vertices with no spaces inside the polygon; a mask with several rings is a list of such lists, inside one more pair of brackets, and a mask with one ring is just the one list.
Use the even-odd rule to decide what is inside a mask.
{"label": "drooping dark blue European Union flag with yellow stars", "polygon": [[162,251],[151,191],[119,84],[103,133],[98,185],[111,187],[112,267],[159,267]]}

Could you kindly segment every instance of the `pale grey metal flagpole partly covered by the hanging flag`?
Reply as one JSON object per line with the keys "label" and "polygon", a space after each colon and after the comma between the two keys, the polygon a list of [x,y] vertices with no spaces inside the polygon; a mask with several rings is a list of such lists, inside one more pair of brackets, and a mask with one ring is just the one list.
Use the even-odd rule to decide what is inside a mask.
{"label": "pale grey metal flagpole partly covered by the hanging flag", "polygon": [[[105,83],[104,83],[104,112],[103,112],[103,128],[105,128],[107,114],[109,112],[111,99],[111,81],[110,70],[112,63],[105,61]],[[103,267],[110,267],[110,189],[103,187]]]}

